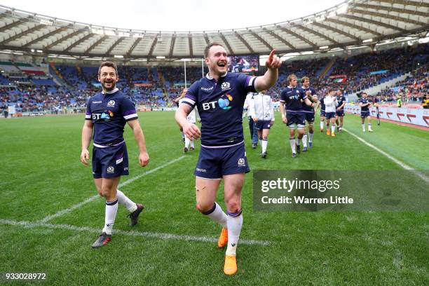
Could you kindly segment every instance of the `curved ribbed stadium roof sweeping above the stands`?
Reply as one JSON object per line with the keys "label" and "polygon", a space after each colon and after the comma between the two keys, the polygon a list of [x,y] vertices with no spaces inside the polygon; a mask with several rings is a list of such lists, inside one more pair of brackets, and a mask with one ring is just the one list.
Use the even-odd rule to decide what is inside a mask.
{"label": "curved ribbed stadium roof sweeping above the stands", "polygon": [[340,50],[424,37],[429,0],[349,0],[294,20],[219,31],[164,32],[103,27],[0,6],[0,50],[79,59],[201,58],[207,43],[232,55]]}

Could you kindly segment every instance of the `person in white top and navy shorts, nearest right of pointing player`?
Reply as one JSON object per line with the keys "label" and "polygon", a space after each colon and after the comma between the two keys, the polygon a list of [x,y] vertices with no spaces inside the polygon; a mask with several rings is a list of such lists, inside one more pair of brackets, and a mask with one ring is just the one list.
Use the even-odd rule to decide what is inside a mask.
{"label": "person in white top and navy shorts, nearest right of pointing player", "polygon": [[258,131],[259,144],[261,144],[262,148],[261,157],[266,158],[268,135],[275,121],[271,96],[266,95],[265,91],[255,95],[250,103],[250,114]]}

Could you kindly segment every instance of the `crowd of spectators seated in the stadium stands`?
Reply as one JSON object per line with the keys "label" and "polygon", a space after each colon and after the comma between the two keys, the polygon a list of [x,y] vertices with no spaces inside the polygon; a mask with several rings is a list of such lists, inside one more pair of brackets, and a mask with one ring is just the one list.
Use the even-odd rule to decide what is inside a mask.
{"label": "crowd of spectators seated in the stadium stands", "polygon": [[[395,101],[400,95],[404,97],[404,102],[418,101],[428,92],[428,52],[429,45],[426,43],[346,58],[337,57],[330,68],[328,63],[332,62],[332,57],[284,62],[280,67],[279,80],[268,90],[268,94],[278,100],[282,88],[287,86],[287,75],[292,73],[298,78],[310,77],[311,86],[320,95],[327,93],[328,88],[343,90],[348,95],[414,70],[407,79],[382,90],[377,97],[388,102]],[[88,97],[100,90],[98,67],[79,67],[76,64],[58,65],[55,68],[64,86],[58,86],[52,79],[32,79],[24,74],[19,81],[17,75],[13,75],[13,78],[0,75],[0,108],[15,104],[16,109],[22,112],[56,112],[64,110],[64,107],[84,109]],[[120,66],[118,72],[118,87],[136,104],[147,107],[174,105],[173,101],[182,93],[185,84],[189,87],[202,76],[201,67],[186,67],[186,83],[184,67]]]}

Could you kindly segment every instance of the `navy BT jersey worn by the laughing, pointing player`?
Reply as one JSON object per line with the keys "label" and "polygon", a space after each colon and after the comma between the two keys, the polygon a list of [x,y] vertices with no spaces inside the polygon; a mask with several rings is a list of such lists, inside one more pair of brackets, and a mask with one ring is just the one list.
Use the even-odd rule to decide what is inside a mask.
{"label": "navy BT jersey worn by the laughing, pointing player", "polygon": [[256,76],[227,72],[219,81],[207,74],[187,91],[181,104],[197,107],[201,118],[201,145],[231,146],[243,142],[243,105],[256,92]]}

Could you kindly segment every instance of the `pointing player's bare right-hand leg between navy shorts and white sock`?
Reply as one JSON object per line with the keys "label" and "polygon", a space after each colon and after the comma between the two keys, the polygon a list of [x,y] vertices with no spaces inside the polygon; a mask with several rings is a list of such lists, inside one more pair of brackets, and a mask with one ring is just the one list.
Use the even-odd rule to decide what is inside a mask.
{"label": "pointing player's bare right-hand leg between navy shorts and white sock", "polygon": [[224,175],[224,196],[228,212],[237,212],[241,208],[244,178],[244,173]]}

